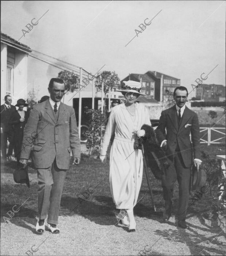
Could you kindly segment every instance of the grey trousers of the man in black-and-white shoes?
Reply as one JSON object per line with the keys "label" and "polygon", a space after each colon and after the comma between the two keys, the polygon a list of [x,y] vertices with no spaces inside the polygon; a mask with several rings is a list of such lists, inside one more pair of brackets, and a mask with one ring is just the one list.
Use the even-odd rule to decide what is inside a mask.
{"label": "grey trousers of the man in black-and-white shoes", "polygon": [[45,219],[48,214],[47,223],[49,224],[58,224],[66,171],[57,167],[56,159],[54,159],[52,166],[47,169],[37,168],[39,219]]}

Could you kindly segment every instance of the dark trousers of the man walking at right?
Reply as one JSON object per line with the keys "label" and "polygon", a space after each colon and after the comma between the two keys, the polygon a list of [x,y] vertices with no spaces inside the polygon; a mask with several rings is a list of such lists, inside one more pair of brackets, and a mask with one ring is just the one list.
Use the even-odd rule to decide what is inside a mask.
{"label": "dark trousers of the man walking at right", "polygon": [[191,170],[184,166],[182,155],[175,152],[172,164],[163,169],[162,187],[165,205],[171,205],[176,180],[179,185],[178,220],[184,220],[188,208]]}

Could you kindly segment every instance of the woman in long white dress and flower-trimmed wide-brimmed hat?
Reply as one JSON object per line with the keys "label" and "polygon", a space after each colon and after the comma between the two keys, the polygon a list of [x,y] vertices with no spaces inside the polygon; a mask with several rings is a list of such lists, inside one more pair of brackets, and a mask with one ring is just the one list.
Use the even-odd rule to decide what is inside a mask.
{"label": "woman in long white dress and flower-trimmed wide-brimmed hat", "polygon": [[[144,106],[135,102],[140,95],[141,84],[135,81],[124,81],[123,90],[126,101],[112,108],[106,126],[100,159],[103,162],[114,133],[114,141],[110,151],[110,191],[113,201],[120,214],[122,226],[129,227],[129,231],[136,230],[133,207],[137,203],[142,174],[143,157],[140,149],[134,149],[139,137],[145,136],[141,130],[143,124],[151,125],[148,111]],[[128,215],[129,221],[127,219]]]}

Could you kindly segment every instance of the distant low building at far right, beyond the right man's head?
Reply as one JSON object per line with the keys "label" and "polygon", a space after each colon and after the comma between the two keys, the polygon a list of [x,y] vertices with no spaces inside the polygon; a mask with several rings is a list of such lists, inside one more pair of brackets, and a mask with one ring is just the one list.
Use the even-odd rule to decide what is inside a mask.
{"label": "distant low building at far right, beyond the right man's head", "polygon": [[225,99],[225,86],[222,84],[202,84],[196,87],[196,99],[219,101]]}

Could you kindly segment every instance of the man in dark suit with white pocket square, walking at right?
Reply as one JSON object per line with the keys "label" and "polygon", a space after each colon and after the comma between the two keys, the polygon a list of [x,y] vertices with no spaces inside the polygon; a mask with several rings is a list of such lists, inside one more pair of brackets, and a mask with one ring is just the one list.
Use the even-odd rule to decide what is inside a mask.
{"label": "man in dark suit with white pocket square, walking at right", "polygon": [[159,126],[156,129],[156,136],[161,147],[172,160],[172,164],[163,170],[162,174],[163,198],[165,200],[163,221],[167,222],[171,216],[174,183],[178,180],[178,226],[184,229],[189,228],[185,222],[185,217],[189,200],[190,168],[193,162],[199,169],[202,162],[200,160],[198,116],[185,106],[187,96],[186,87],[175,88],[174,100],[176,105],[161,113]]}

